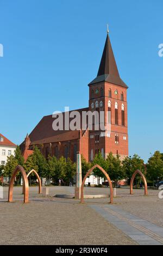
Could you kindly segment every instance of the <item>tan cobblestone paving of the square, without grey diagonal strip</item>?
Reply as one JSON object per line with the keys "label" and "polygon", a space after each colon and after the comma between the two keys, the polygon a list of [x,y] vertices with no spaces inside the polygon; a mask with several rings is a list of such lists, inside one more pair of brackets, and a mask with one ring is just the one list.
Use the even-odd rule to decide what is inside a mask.
{"label": "tan cobblestone paving of the square, without grey diagonal strip", "polygon": [[[8,188],[4,188],[4,199],[0,199],[0,244],[1,245],[134,245],[136,241],[97,212],[108,205],[108,198],[78,200],[53,197],[55,194],[73,193],[73,187],[49,187],[49,198],[37,194],[38,188],[30,187],[30,203],[23,204],[22,187],[14,187],[14,203],[5,202]],[[87,194],[106,194],[109,188],[85,188]],[[163,226],[161,213],[163,199],[158,191],[129,189],[117,190],[114,205],[145,220]]]}

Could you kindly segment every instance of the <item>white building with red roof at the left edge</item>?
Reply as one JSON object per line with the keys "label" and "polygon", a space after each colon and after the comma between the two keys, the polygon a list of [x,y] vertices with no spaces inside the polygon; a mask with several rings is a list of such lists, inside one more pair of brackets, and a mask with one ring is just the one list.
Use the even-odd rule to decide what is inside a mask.
{"label": "white building with red roof at the left edge", "polygon": [[6,164],[8,156],[15,155],[16,145],[0,133],[0,164]]}

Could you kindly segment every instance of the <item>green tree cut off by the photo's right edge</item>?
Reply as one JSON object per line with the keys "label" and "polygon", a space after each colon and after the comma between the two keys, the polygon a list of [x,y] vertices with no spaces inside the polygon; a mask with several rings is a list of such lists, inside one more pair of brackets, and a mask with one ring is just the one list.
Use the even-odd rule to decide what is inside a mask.
{"label": "green tree cut off by the photo's right edge", "polygon": [[147,176],[151,180],[163,179],[163,160],[160,151],[155,151],[147,163]]}

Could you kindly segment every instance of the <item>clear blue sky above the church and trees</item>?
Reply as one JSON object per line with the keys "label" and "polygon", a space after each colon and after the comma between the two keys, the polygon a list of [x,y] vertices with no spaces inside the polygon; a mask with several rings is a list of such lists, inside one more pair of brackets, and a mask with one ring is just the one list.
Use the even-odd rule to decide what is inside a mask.
{"label": "clear blue sky above the church and trees", "polygon": [[162,0],[0,0],[0,132],[19,144],[43,115],[87,107],[106,23],[128,89],[129,154],[163,152]]}

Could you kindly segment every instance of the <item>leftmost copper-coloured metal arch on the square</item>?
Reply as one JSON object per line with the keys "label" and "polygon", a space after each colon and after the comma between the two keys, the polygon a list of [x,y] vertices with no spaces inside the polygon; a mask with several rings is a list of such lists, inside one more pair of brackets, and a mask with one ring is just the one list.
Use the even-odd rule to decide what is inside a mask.
{"label": "leftmost copper-coloured metal arch on the square", "polygon": [[23,177],[23,184],[24,184],[24,203],[29,202],[29,185],[28,185],[28,178],[24,168],[21,165],[16,166],[14,172],[12,173],[10,185],[9,185],[9,194],[8,194],[8,202],[12,202],[13,198],[13,187],[16,174],[20,170],[22,177]]}

